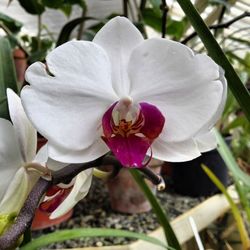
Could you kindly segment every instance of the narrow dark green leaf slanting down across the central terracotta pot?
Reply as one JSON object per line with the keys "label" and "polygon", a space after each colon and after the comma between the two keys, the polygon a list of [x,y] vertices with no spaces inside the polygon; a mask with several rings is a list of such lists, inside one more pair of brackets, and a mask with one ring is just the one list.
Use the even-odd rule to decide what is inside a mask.
{"label": "narrow dark green leaf slanting down across the central terracotta pot", "polygon": [[168,245],[176,250],[181,250],[181,246],[178,242],[178,239],[176,238],[176,235],[171,227],[171,224],[169,223],[168,216],[166,212],[162,209],[159,201],[155,197],[155,195],[152,193],[151,189],[148,187],[148,185],[145,183],[143,177],[136,169],[130,169],[130,173],[134,177],[137,184],[140,186],[141,190],[147,197],[148,201],[150,202],[157,219],[159,223],[161,224],[165,237],[167,239]]}

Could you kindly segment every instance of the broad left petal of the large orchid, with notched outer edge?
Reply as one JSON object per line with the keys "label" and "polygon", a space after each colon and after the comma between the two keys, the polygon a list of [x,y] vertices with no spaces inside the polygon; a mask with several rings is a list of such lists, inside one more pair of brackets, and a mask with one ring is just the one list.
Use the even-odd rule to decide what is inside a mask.
{"label": "broad left petal of the large orchid, with notched outer edge", "polygon": [[94,43],[71,41],[52,51],[47,64],[54,76],[41,63],[26,71],[25,111],[49,145],[84,150],[100,136],[102,115],[117,100],[108,56]]}

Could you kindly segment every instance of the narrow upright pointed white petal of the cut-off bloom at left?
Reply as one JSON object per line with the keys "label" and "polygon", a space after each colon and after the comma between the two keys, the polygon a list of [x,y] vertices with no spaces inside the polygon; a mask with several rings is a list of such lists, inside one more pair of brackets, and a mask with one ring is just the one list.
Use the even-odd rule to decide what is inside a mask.
{"label": "narrow upright pointed white petal of the cut-off bloom at left", "polygon": [[23,160],[31,162],[36,154],[36,130],[28,120],[19,96],[12,89],[7,89],[7,98],[11,121],[20,144]]}

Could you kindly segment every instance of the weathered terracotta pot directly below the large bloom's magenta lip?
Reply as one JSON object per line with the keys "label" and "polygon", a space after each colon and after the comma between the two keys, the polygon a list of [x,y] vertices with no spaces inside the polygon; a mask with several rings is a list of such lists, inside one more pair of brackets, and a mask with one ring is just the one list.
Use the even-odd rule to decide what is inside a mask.
{"label": "weathered terracotta pot directly below the large bloom's magenta lip", "polygon": [[[151,169],[159,174],[162,162],[152,160]],[[155,193],[156,187],[149,180],[146,183]],[[140,187],[134,181],[129,170],[121,169],[118,176],[107,182],[111,207],[114,211],[122,213],[143,213],[151,210],[151,205],[144,196]]]}

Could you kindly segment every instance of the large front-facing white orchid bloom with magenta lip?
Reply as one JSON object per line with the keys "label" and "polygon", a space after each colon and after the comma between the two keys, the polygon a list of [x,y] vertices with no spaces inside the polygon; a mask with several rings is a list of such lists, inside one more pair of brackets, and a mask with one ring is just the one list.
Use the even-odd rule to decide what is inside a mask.
{"label": "large front-facing white orchid bloom with magenta lip", "polygon": [[69,163],[110,150],[124,167],[144,167],[146,155],[196,158],[226,99],[223,72],[210,57],[167,39],[144,40],[124,17],[93,42],[57,47],[46,65],[28,68],[26,80],[28,117],[48,139],[49,156]]}

